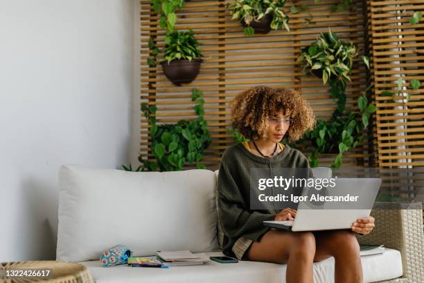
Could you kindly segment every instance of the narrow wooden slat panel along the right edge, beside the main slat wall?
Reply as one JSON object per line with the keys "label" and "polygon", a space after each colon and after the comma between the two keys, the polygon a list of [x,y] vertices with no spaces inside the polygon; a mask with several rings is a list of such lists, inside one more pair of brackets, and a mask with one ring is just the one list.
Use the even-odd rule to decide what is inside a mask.
{"label": "narrow wooden slat panel along the right edge, beside the main slat wall", "polygon": [[[424,165],[424,22],[412,26],[414,11],[424,13],[424,0],[367,1],[371,17],[373,81],[377,101],[378,164],[383,166]],[[405,93],[393,101],[380,96],[393,90],[401,77]],[[412,90],[409,81],[421,80]]]}

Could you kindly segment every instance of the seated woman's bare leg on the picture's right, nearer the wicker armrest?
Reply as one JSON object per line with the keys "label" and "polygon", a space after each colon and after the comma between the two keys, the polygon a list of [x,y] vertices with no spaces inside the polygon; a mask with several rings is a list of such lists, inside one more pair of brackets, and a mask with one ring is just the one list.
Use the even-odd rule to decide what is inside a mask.
{"label": "seated woman's bare leg on the picture's right, nearer the wicker armrest", "polygon": [[335,258],[335,283],[363,282],[360,247],[350,230],[313,232],[317,248],[314,261]]}

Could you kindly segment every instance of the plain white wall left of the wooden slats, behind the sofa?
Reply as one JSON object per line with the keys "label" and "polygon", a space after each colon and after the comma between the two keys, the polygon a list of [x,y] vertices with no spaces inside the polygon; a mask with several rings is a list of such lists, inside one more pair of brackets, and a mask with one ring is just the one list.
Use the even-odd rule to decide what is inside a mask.
{"label": "plain white wall left of the wooden slats, behind the sofa", "polygon": [[129,162],[133,24],[133,0],[0,0],[0,261],[55,258],[61,164]]}

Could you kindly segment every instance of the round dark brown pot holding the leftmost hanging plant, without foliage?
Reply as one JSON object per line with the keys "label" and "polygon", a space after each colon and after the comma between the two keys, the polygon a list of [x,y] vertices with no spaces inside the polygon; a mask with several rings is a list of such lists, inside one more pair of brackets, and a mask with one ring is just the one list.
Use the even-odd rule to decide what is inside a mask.
{"label": "round dark brown pot holding the leftmost hanging plant, without foliage", "polygon": [[173,60],[161,62],[162,69],[168,80],[174,85],[182,83],[191,83],[200,72],[200,63],[202,59],[197,58],[189,60]]}

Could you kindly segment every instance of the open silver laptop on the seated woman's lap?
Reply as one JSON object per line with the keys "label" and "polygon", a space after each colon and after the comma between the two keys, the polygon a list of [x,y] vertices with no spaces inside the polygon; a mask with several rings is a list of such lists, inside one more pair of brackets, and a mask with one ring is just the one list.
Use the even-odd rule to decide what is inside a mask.
{"label": "open silver laptop on the seated woman's lap", "polygon": [[322,196],[349,195],[357,196],[357,201],[360,201],[360,203],[353,201],[300,202],[294,220],[263,221],[263,224],[271,228],[294,232],[350,229],[357,218],[369,216],[380,189],[380,178],[336,178],[335,184],[335,187],[327,187],[324,191],[305,188],[302,191],[302,196],[311,196],[312,194]]}

